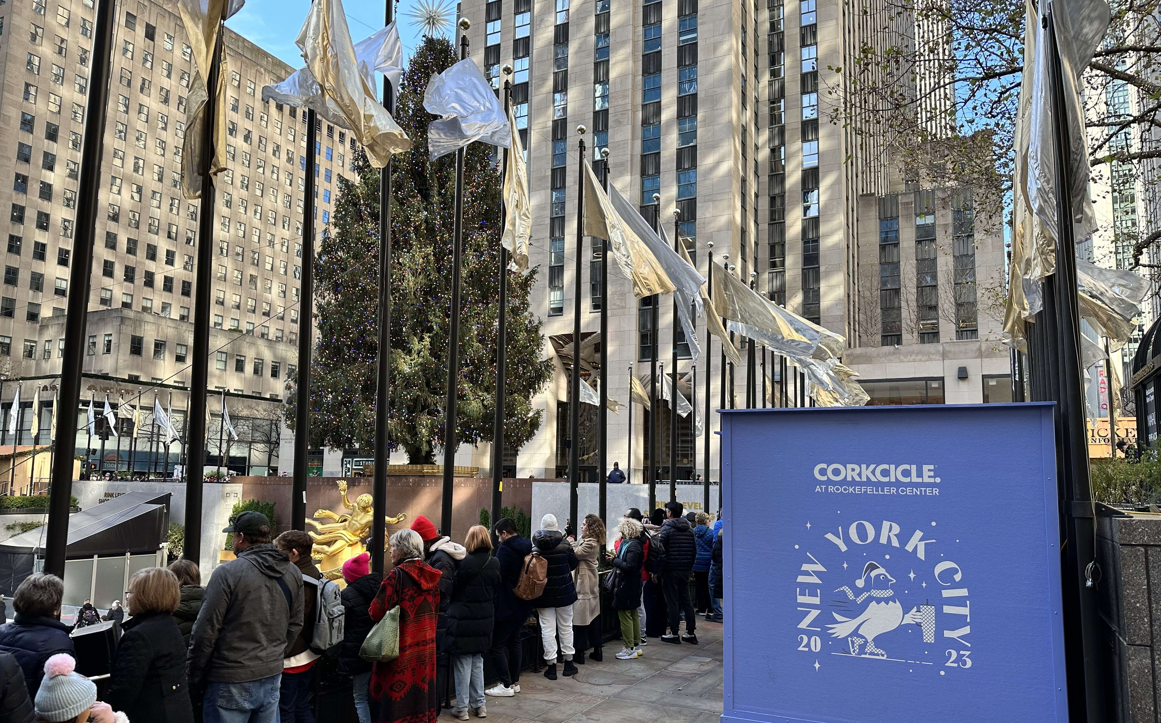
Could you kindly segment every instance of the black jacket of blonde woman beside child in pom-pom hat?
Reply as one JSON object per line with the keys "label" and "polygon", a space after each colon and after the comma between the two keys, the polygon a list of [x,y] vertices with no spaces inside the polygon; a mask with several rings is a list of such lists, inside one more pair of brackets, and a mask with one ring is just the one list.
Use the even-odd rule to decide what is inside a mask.
{"label": "black jacket of blonde woman beside child in pom-pom hat", "polygon": [[194,723],[186,687],[186,644],[168,613],[134,615],[124,624],[102,696],[130,721]]}

